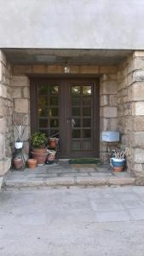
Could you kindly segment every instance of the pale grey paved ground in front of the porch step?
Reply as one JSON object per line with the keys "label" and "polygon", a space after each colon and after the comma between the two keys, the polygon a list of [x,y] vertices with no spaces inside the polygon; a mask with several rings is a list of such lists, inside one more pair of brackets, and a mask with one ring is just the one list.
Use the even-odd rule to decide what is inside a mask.
{"label": "pale grey paved ground in front of the porch step", "polygon": [[1,256],[143,256],[144,187],[0,192]]}

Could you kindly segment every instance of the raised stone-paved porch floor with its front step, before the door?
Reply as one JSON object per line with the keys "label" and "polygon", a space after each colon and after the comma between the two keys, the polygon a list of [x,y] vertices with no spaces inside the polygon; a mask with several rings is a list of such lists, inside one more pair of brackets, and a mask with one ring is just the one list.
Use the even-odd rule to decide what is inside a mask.
{"label": "raised stone-paved porch floor with its front step, before the door", "polygon": [[24,172],[9,171],[4,178],[6,189],[41,186],[89,186],[133,184],[135,179],[130,173],[114,173],[108,165],[69,165],[59,160],[53,165],[25,169]]}

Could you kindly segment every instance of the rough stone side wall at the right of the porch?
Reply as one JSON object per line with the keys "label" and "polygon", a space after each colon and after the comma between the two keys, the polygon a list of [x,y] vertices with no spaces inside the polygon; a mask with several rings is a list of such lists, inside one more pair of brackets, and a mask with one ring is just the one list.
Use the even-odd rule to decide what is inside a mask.
{"label": "rough stone side wall at the right of the porch", "polygon": [[144,51],[135,51],[118,67],[118,129],[128,169],[144,177]]}

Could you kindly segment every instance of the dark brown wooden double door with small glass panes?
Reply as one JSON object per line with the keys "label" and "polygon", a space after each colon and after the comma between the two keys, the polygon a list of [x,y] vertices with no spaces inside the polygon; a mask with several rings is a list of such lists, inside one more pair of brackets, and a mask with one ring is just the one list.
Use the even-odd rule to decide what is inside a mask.
{"label": "dark brown wooden double door with small glass panes", "polygon": [[99,157],[99,86],[95,79],[32,79],[31,125],[60,138],[60,157]]}

